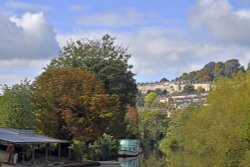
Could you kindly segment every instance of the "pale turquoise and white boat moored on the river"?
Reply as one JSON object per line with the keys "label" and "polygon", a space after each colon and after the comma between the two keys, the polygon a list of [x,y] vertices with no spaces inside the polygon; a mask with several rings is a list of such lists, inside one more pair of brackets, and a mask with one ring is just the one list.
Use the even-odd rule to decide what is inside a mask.
{"label": "pale turquoise and white boat moored on the river", "polygon": [[139,140],[121,139],[119,142],[119,156],[138,156],[142,152]]}

